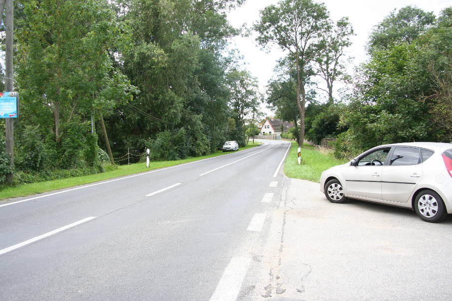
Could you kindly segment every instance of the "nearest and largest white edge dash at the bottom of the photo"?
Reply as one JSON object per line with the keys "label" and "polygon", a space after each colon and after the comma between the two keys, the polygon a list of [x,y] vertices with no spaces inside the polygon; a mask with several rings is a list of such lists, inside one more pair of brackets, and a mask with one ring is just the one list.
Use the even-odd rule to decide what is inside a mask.
{"label": "nearest and largest white edge dash at the bottom of the photo", "polygon": [[232,257],[210,301],[234,301],[248,271],[251,258]]}

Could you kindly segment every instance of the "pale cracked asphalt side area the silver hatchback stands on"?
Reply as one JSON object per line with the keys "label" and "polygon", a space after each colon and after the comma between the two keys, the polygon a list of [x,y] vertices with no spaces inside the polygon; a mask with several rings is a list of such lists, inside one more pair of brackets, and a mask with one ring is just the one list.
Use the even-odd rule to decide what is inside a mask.
{"label": "pale cracked asphalt side area the silver hatchback stands on", "polygon": [[452,216],[432,224],[403,208],[333,204],[318,183],[285,177],[269,219],[238,300],[452,298]]}

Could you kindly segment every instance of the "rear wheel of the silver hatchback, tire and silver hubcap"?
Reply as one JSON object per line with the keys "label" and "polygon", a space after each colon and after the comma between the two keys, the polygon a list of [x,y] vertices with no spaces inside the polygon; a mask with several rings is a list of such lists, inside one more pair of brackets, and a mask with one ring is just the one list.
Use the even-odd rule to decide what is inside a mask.
{"label": "rear wheel of the silver hatchback, tire and silver hubcap", "polygon": [[433,190],[422,190],[415,198],[416,214],[426,222],[437,223],[448,215],[441,196]]}

